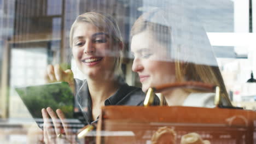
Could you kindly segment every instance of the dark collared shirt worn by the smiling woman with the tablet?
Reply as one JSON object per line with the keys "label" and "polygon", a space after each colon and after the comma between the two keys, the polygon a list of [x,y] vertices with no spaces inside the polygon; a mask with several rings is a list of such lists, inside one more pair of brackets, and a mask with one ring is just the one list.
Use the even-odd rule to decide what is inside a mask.
{"label": "dark collared shirt worn by the smiling woman with the tablet", "polygon": [[[89,93],[88,83],[86,80],[75,79],[75,92],[76,103],[79,105],[84,116],[86,124],[95,123],[92,119],[92,101]],[[107,105],[135,105],[143,106],[143,101],[146,94],[141,88],[127,85],[125,82],[120,82],[120,87],[115,94],[105,100],[104,104]],[[159,105],[158,97],[155,97],[153,105]],[[98,118],[97,118],[98,119]]]}

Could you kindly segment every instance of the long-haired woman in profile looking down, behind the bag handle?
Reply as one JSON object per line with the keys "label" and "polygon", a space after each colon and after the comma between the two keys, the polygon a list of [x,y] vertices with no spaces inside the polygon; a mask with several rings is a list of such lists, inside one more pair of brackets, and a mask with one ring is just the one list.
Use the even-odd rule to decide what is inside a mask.
{"label": "long-haired woman in profile looking down, behind the bag handle", "polygon": [[[204,82],[219,86],[222,105],[231,105],[206,32],[191,11],[174,5],[144,13],[131,29],[131,52],[144,92],[165,83]],[[214,106],[214,93],[177,88],[162,94],[170,106]]]}

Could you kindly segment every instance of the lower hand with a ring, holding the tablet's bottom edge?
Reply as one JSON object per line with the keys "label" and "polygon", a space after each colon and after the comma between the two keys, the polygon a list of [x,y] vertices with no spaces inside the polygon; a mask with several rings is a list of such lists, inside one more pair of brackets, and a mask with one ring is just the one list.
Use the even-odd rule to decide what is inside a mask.
{"label": "lower hand with a ring, holding the tablet's bottom edge", "polygon": [[[72,129],[68,127],[63,112],[57,109],[56,113],[50,107],[47,107],[46,110],[42,109],[44,119],[44,142],[75,143],[75,135],[72,133]],[[53,121],[53,124],[51,121]]]}

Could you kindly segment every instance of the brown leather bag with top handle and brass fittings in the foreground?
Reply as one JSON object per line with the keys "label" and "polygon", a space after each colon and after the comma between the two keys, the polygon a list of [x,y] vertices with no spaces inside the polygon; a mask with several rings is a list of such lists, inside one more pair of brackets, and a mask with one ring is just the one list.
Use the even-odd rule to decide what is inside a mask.
{"label": "brown leather bag with top handle and brass fittings in the foreground", "polygon": [[[216,108],[150,106],[154,92],[166,88],[216,91]],[[255,143],[256,113],[226,109],[219,88],[198,82],[171,83],[149,89],[143,106],[104,106],[96,143]],[[230,103],[231,104],[231,103]],[[229,108],[232,105],[228,105]],[[254,122],[255,121],[255,122]]]}

